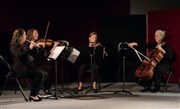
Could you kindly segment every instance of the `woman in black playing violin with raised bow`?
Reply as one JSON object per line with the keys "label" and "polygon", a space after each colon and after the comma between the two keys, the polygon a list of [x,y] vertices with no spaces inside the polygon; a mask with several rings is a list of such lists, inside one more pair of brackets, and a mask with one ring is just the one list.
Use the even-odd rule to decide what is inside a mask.
{"label": "woman in black playing violin with raised bow", "polygon": [[[56,47],[58,43],[54,43],[52,41],[44,41],[43,39],[39,39],[39,33],[38,30],[35,28],[29,29],[27,31],[27,40],[33,41],[36,43],[36,48],[33,49],[33,56],[35,59],[35,66],[38,68],[41,68],[48,72],[48,77],[47,80],[45,81],[44,84],[44,92],[45,94],[51,94],[50,89],[51,89],[51,82],[52,82],[52,61],[48,61],[47,57],[50,54],[51,49]],[[53,43],[53,44],[52,44]],[[53,47],[52,47],[53,46]]]}

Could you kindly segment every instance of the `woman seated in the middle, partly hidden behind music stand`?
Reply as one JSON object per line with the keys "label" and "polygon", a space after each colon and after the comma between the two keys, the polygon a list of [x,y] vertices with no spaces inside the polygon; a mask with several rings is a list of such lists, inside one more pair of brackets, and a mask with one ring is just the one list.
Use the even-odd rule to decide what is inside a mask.
{"label": "woman seated in the middle, partly hidden behind music stand", "polygon": [[[97,42],[97,33],[91,32],[89,34],[89,42],[84,44],[83,47],[102,47],[101,43]],[[81,54],[80,54],[81,55]],[[107,55],[107,53],[106,53]],[[99,64],[95,62],[95,71],[93,72],[92,78],[93,78],[93,91],[94,93],[97,93],[97,80],[98,80],[98,74],[99,74]],[[79,69],[78,69],[78,89],[75,91],[76,94],[78,92],[83,90],[83,75],[86,70],[86,68],[90,68],[90,56],[83,57],[80,59],[79,62]]]}

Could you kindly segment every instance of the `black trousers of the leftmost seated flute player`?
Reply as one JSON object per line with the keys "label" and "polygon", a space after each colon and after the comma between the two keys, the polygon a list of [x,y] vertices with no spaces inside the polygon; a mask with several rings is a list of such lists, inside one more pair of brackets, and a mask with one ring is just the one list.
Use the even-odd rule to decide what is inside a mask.
{"label": "black trousers of the leftmost seated flute player", "polygon": [[28,68],[27,78],[32,80],[30,96],[36,96],[39,94],[39,91],[43,87],[47,76],[47,72],[40,68]]}

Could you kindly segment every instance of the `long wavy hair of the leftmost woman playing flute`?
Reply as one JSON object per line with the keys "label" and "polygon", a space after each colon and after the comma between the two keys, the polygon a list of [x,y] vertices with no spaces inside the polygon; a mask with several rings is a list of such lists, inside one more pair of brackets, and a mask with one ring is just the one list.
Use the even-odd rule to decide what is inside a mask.
{"label": "long wavy hair of the leftmost woman playing flute", "polygon": [[11,43],[21,43],[21,37],[23,36],[25,30],[23,28],[18,28],[14,30]]}

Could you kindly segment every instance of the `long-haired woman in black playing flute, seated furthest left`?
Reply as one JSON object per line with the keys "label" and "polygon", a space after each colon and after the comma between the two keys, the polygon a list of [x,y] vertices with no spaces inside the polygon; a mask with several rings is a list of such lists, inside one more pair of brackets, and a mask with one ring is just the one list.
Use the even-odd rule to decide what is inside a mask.
{"label": "long-haired woman in black playing flute, seated furthest left", "polygon": [[37,47],[36,43],[31,41],[26,43],[26,32],[18,28],[13,32],[10,43],[10,52],[13,57],[13,70],[19,77],[32,80],[29,100],[41,101],[39,90],[47,78],[47,72],[34,66],[34,59],[31,56],[32,49]]}

